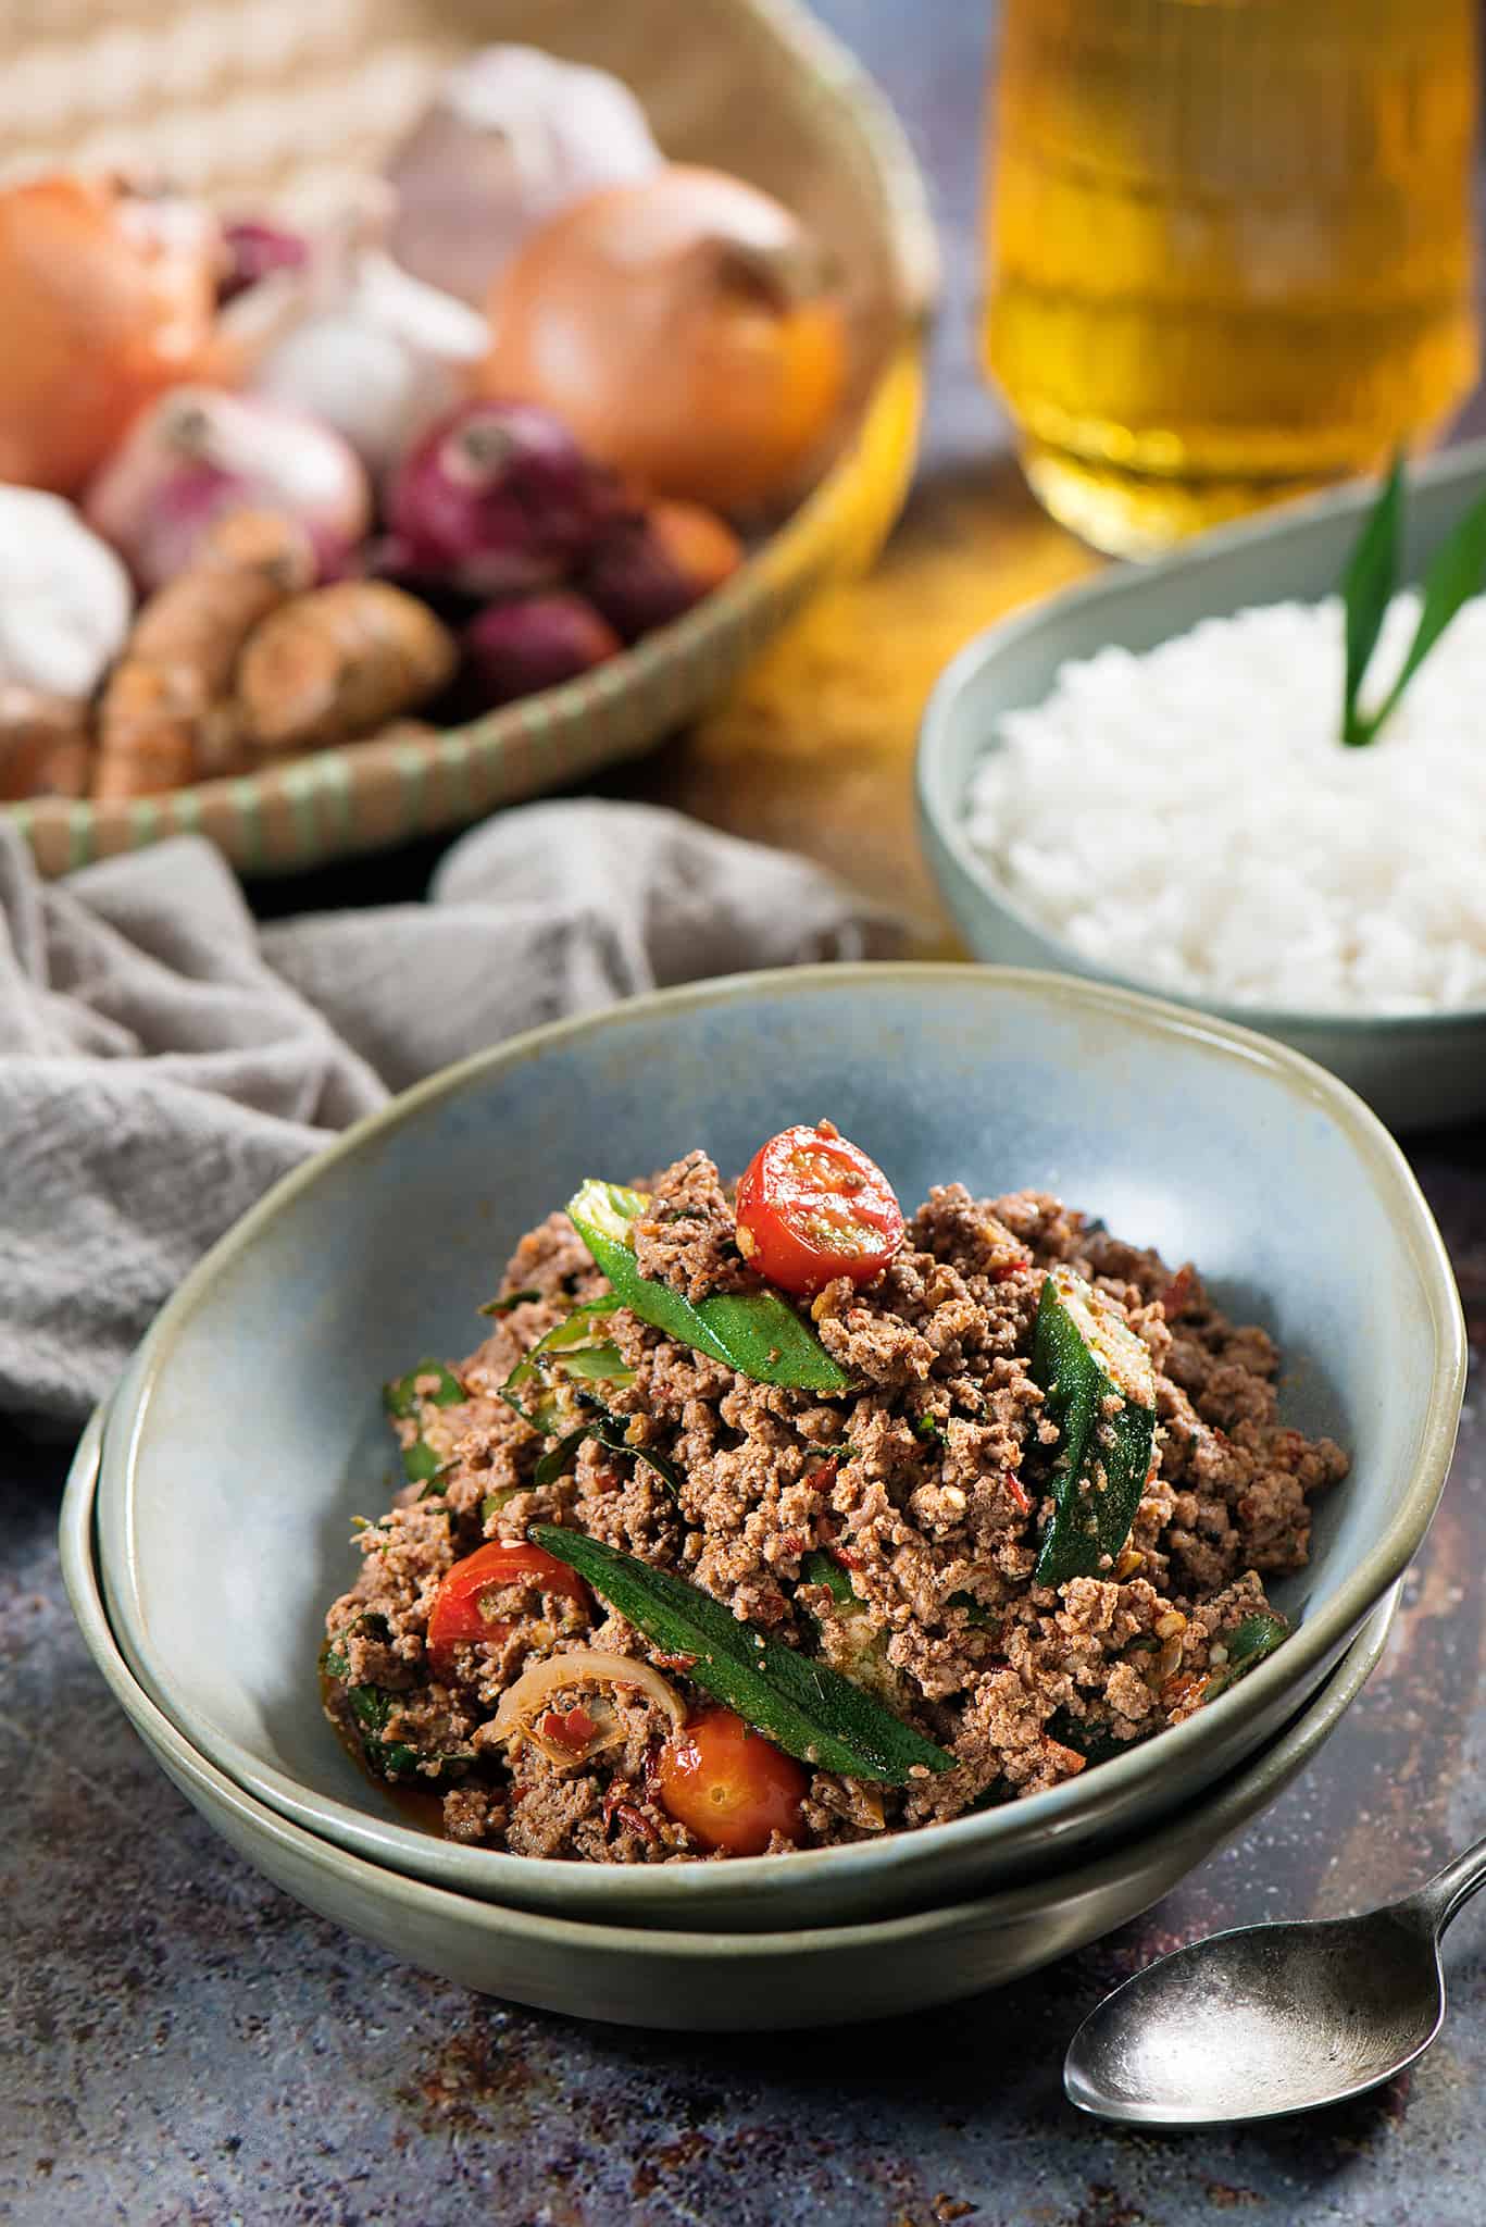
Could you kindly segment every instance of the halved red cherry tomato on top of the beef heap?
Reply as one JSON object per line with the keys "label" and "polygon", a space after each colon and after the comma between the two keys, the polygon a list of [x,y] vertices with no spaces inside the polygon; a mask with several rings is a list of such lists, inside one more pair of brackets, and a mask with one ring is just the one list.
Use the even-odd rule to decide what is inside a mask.
{"label": "halved red cherry tomato on top of the beef heap", "polygon": [[782,1292],[813,1298],[835,1276],[871,1283],[902,1240],[893,1187],[833,1122],[780,1129],[737,1185],[737,1249]]}

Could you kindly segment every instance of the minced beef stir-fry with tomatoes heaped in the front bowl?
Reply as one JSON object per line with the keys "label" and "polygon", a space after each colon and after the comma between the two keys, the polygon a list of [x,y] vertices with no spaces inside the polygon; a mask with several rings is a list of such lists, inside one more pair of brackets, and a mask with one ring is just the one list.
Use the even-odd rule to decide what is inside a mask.
{"label": "minced beef stir-fry with tomatoes heaped in the front bowl", "polygon": [[[829,1125],[786,1136],[853,1154]],[[1310,1499],[1348,1463],[1281,1423],[1270,1338],[1228,1323],[1192,1267],[1056,1198],[949,1183],[907,1225],[880,1214],[849,1256],[856,1191],[838,1191],[827,1220],[795,1218],[804,1249],[786,1256],[751,1209],[740,1229],[735,1194],[693,1151],[648,1196],[615,1194],[648,1321],[553,1214],[519,1243],[486,1343],[394,1387],[412,1481],[359,1534],[361,1577],[325,1626],[325,1695],[372,1768],[441,1793],[452,1840],[615,1864],[933,1824],[1179,1724],[1283,1637],[1265,1579],[1306,1561]],[[815,1274],[800,1267],[809,1245]],[[771,1292],[778,1307],[766,1272],[786,1258],[795,1334],[838,1390],[757,1381],[657,1327],[666,1294],[688,1318],[720,1294],[746,1312]],[[1034,1572],[1040,1557],[1049,1570],[1058,1461],[1072,1492],[1074,1430],[1054,1419],[1067,1370],[1054,1385],[1038,1365],[1056,1294],[1065,1336],[1087,1327],[1087,1347],[1063,1352],[1105,1374],[1089,1374],[1092,1543],[1072,1548],[1089,1568],[1049,1583]],[[606,1309],[577,1312],[593,1301]],[[561,1379],[561,1428],[508,1383],[559,1327],[586,1370]],[[778,1345],[751,1363],[771,1365],[798,1367]],[[1112,1532],[1130,1416],[1141,1468]],[[606,1568],[671,1572],[722,1603],[749,1641],[735,1677],[755,1659],[769,1679],[773,1644],[840,1672],[864,1713],[842,1717],[851,1737],[891,1719],[909,1759],[824,1768],[831,1750],[784,1719],[740,1721],[746,1706],[726,1704],[753,1688],[720,1686],[700,1641],[677,1646],[630,1599],[646,1637],[590,1563],[530,1543],[544,1525],[561,1528],[541,1532],[559,1554],[581,1534],[590,1557],[617,1550]]]}

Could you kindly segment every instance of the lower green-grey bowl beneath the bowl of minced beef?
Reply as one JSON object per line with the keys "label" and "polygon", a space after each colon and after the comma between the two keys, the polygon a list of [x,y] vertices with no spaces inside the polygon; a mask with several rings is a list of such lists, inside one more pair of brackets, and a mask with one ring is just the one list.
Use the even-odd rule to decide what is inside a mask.
{"label": "lower green-grey bowl beneath the bowl of minced beef", "polygon": [[1306,1708],[1241,1770],[1094,1862],[869,1924],[780,1931],[764,1920],[740,1933],[588,1924],[454,1895],[352,1855],[245,1793],[180,1737],[129,1675],[102,1608],[94,1552],[100,1423],[94,1416],[82,1434],[67,1481],[62,1574],[94,1664],[172,1786],[285,1895],[401,1962],[506,2002],[624,2027],[749,2033],[889,2018],[1005,1986],[1109,1933],[1234,1840],[1306,1768],[1377,1668],[1399,1599],[1395,1586]]}

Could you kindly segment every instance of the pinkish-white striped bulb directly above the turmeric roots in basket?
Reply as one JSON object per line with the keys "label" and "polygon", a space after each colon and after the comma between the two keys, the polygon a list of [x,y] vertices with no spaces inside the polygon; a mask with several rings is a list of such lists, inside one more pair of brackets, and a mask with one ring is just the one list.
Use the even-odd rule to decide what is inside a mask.
{"label": "pinkish-white striped bulb directly above the turmeric roots in basket", "polygon": [[372,490],[354,450],[327,425],[258,394],[172,387],[136,419],[82,503],[140,588],[189,561],[229,510],[281,510],[334,579],[372,523]]}

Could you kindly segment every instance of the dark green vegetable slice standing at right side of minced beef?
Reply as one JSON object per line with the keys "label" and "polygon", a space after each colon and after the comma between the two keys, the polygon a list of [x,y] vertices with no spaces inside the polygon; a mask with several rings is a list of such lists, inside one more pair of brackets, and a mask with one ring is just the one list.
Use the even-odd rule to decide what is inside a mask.
{"label": "dark green vegetable slice standing at right side of minced beef", "polygon": [[1058,1425],[1054,1512],[1032,1579],[1098,1577],[1130,1537],[1156,1443],[1156,1372],[1147,1347],[1083,1276],[1043,1283],[1032,1379]]}

